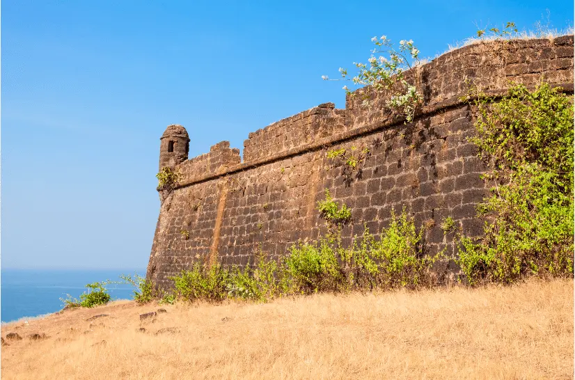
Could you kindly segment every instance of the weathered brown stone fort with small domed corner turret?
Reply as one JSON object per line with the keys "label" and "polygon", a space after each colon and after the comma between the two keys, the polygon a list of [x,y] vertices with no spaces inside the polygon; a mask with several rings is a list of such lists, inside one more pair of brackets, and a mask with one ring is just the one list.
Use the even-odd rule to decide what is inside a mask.
{"label": "weathered brown stone fort with small domed corner turret", "polygon": [[[494,40],[453,50],[418,68],[423,106],[406,124],[386,111],[386,95],[347,96],[345,109],[324,103],[249,134],[239,149],[222,141],[210,152],[188,159],[190,138],[170,125],[160,138],[159,168],[180,173],[178,185],[160,191],[161,207],[147,278],[156,287],[172,286],[171,276],[197,260],[244,266],[261,250],[278,258],[298,240],[326,231],[317,202],[325,189],[352,210],[342,229],[344,244],[366,225],[377,233],[391,211],[403,208],[416,225],[426,225],[431,251],[457,254],[448,216],[467,236],[482,233],[475,206],[489,194],[480,178],[485,166],[475,145],[470,84],[490,95],[511,82],[530,88],[546,81],[573,93],[574,38]],[[193,134],[192,134],[193,141]],[[329,150],[363,150],[355,170]]]}

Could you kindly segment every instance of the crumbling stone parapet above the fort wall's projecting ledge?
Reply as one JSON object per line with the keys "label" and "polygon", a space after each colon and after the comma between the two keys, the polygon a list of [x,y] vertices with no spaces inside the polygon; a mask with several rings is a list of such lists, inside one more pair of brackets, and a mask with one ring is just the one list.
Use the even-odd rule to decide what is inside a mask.
{"label": "crumbling stone parapet above the fort wall's projecting ledge", "polygon": [[[489,41],[443,54],[412,69],[418,78],[416,86],[424,96],[418,116],[461,104],[460,98],[466,95],[471,83],[487,93],[503,93],[510,81],[535,86],[544,80],[569,89],[572,87],[573,42],[573,35],[553,40]],[[274,161],[316,145],[331,145],[338,139],[353,136],[353,131],[365,132],[366,127],[402,122],[385,107],[388,94],[377,93],[370,87],[360,88],[354,94],[347,95],[345,109],[324,103],[251,132],[244,141],[243,163],[239,150],[228,152],[227,141],[212,146],[210,153],[178,165],[181,184]],[[370,106],[362,105],[365,95],[370,99]],[[221,149],[217,148],[220,145]]]}

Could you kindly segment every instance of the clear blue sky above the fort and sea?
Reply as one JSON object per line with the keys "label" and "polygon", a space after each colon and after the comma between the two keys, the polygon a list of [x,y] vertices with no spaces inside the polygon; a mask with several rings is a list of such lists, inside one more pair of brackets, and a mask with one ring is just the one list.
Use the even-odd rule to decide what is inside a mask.
{"label": "clear blue sky above the fort and sea", "polygon": [[142,268],[159,212],[159,137],[190,157],[317,104],[370,38],[433,57],[478,26],[564,29],[562,1],[1,2],[1,265]]}

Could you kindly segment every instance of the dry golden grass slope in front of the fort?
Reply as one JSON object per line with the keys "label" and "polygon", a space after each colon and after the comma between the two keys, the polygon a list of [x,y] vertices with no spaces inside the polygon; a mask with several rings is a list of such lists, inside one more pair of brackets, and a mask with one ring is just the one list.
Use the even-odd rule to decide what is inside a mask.
{"label": "dry golden grass slope in front of the fort", "polygon": [[[268,304],[116,302],[2,326],[2,379],[572,379],[573,280],[317,295]],[[90,322],[86,318],[109,313]],[[141,333],[138,328],[146,328]],[[178,333],[156,335],[160,328]],[[84,333],[86,330],[92,330]],[[29,340],[30,333],[46,340]]]}

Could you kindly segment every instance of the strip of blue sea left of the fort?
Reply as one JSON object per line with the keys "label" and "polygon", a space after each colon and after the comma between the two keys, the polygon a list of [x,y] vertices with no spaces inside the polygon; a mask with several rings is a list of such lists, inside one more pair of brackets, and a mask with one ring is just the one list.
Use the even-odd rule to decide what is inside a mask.
{"label": "strip of blue sea left of the fort", "polygon": [[[62,310],[68,294],[79,298],[87,292],[86,284],[111,280],[120,282],[120,275],[145,276],[145,269],[0,269],[0,320],[38,317]],[[107,290],[112,299],[134,299],[132,285],[111,283]]]}

